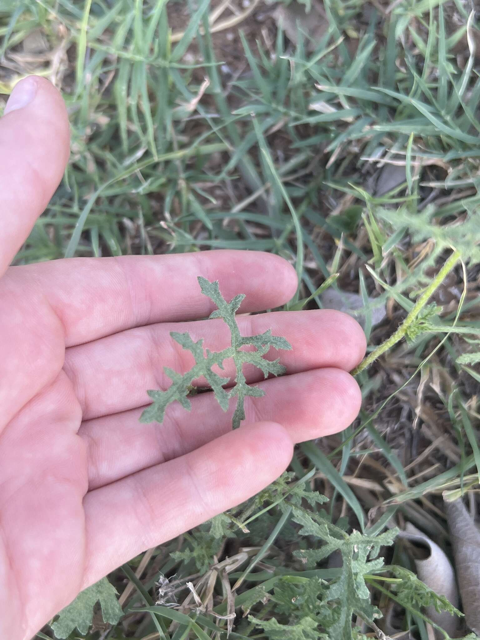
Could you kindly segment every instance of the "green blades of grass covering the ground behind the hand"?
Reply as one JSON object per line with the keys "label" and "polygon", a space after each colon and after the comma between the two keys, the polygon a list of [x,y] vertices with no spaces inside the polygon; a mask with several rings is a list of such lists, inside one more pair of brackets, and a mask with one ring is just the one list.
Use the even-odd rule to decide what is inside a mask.
{"label": "green blades of grass covering the ground behind the hand", "polygon": [[[358,27],[363,5],[371,10]],[[307,491],[330,497],[328,508],[310,505],[315,517],[331,524],[346,516],[347,527],[371,535],[406,519],[443,545],[449,534],[440,516],[442,491],[477,490],[480,473],[478,359],[476,353],[465,359],[477,347],[464,338],[480,330],[480,78],[476,52],[468,49],[476,25],[467,5],[328,0],[328,28],[314,51],[308,52],[305,38],[291,44],[272,26],[268,46],[260,31],[255,46],[237,35],[231,46],[247,63],[237,76],[222,70],[207,0],[191,3],[184,33],[172,39],[168,12],[178,3],[27,0],[0,10],[7,55],[38,28],[49,51],[68,52],[55,69],[39,60],[25,70],[53,73],[62,88],[72,156],[18,264],[73,255],[269,250],[296,266],[300,287],[291,307],[320,306],[319,287],[328,278],[333,287],[360,293],[372,352],[396,331],[452,248],[460,253],[465,273],[461,266],[452,269],[453,293],[440,285],[433,300],[442,310],[431,318],[433,326],[412,342],[391,344],[358,375],[364,396],[358,422],[341,436],[302,445],[292,461],[296,479],[308,479]],[[0,77],[4,90],[19,76]],[[377,195],[369,178],[383,180],[385,163],[404,166],[404,179]],[[384,303],[388,317],[372,327],[372,309]],[[420,387],[420,376],[433,384]],[[433,433],[430,440],[423,424]],[[447,435],[448,451],[438,445],[418,467],[410,466],[435,433]],[[380,483],[380,490],[365,490],[359,481]],[[125,567],[137,588],[125,612],[136,605],[149,610],[129,618],[129,637],[223,640],[228,620],[219,616],[229,611],[228,589],[237,580],[240,616],[230,637],[288,637],[281,635],[288,630],[262,630],[241,618],[238,607],[247,604],[257,620],[273,617],[298,627],[305,602],[314,597],[302,589],[318,579],[339,579],[337,569],[310,570],[298,559],[298,552],[319,550],[325,541],[299,536],[292,486],[275,485],[189,532],[180,550],[179,541],[157,549],[152,560],[159,570],[148,579],[148,568],[141,580],[132,573],[140,557]],[[243,558],[239,547],[257,550]],[[393,553],[401,564],[399,541]],[[219,561],[228,554],[239,562],[218,574],[216,615],[167,609],[168,598],[154,607],[159,576],[170,580],[171,595],[181,603],[189,594],[186,577],[194,576],[201,593],[216,554]],[[120,592],[125,573],[111,576]],[[372,602],[385,607],[388,583],[367,584]],[[298,605],[287,607],[285,598],[295,589]],[[321,629],[328,616],[323,610],[316,615]],[[422,616],[405,607],[403,623],[410,621],[413,636],[424,640]],[[298,637],[321,637],[299,629],[304,635]],[[122,634],[118,627],[89,637]]]}

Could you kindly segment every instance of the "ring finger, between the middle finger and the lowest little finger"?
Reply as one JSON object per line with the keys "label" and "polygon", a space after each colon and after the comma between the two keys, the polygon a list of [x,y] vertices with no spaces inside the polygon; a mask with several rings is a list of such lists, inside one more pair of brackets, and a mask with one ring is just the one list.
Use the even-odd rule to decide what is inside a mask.
{"label": "ring finger, between the middle finger and the lowest little finger", "polygon": [[[355,380],[340,369],[316,369],[265,380],[262,398],[245,401],[246,422],[278,422],[293,442],[346,428],[360,408]],[[202,447],[232,428],[234,403],[224,413],[213,394],[192,398],[191,413],[170,405],[163,424],[139,424],[142,409],[83,423],[90,490]]]}

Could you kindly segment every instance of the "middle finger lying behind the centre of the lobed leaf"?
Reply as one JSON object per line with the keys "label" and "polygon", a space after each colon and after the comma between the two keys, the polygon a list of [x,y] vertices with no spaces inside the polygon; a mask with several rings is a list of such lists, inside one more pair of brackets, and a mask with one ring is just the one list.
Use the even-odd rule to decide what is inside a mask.
{"label": "middle finger lying behind the centre of the lobed leaf", "polygon": [[[268,353],[271,359],[280,356],[287,374],[321,367],[351,371],[365,351],[365,336],[358,323],[333,310],[239,316],[237,323],[241,335],[271,329],[273,335],[289,340],[291,351],[271,349]],[[230,332],[223,321],[202,320],[150,324],[67,349],[64,368],[74,383],[84,420],[148,404],[147,389],[170,386],[163,367],[180,374],[191,369],[193,355],[170,337],[171,331],[188,331],[194,340],[202,337],[211,351],[230,344]],[[228,361],[225,373],[234,373]],[[263,378],[262,372],[250,366],[244,368],[244,374],[249,383]]]}

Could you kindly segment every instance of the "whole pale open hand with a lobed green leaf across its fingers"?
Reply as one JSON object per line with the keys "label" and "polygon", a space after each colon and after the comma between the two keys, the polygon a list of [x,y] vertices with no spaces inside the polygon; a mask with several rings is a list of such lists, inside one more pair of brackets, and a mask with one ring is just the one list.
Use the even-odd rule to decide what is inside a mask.
{"label": "whole pale open hand with a lobed green leaf across its fingers", "polygon": [[[30,101],[27,100],[28,96]],[[28,104],[27,104],[28,103]],[[79,258],[13,266],[68,161],[67,112],[45,79],[15,88],[0,120],[0,637],[29,640],[77,593],[143,550],[248,499],[287,467],[293,445],[355,419],[349,375],[365,351],[356,322],[312,310],[243,316],[292,344],[287,375],[259,381],[232,431],[211,394],[139,424],[163,366],[191,355],[169,332],[227,346],[196,276],[219,280],[240,312],[289,301],[292,266],[260,252]],[[188,327],[187,327],[187,323]],[[273,352],[272,357],[278,356]]]}

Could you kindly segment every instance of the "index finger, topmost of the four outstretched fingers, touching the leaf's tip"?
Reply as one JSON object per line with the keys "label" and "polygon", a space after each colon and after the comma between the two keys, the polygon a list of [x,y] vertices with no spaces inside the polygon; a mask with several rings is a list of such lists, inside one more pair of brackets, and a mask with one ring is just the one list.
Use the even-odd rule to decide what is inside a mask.
{"label": "index finger, topmost of the four outstretched fingers, touching the leaf's tip", "polygon": [[294,268],[271,253],[214,250],[174,255],[69,258],[12,267],[22,295],[48,300],[65,328],[66,346],[135,326],[209,316],[214,305],[197,276],[219,280],[227,301],[246,294],[239,312],[291,300]]}

